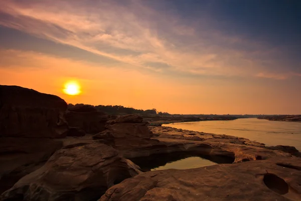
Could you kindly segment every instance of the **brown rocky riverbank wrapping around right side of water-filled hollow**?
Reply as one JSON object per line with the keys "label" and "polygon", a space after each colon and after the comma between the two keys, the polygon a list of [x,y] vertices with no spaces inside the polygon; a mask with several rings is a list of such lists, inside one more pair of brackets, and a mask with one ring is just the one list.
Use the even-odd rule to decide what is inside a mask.
{"label": "brown rocky riverbank wrapping around right side of water-filled hollow", "polygon": [[[171,127],[149,127],[168,151],[206,153],[235,160],[194,169],[147,171],[109,188],[98,201],[127,200],[300,200],[301,158],[295,149],[266,147],[245,138]],[[156,148],[155,148],[156,147]],[[294,153],[295,152],[295,153]],[[232,154],[231,154],[232,153]],[[293,155],[292,155],[293,154]],[[147,155],[144,155],[147,157]]]}

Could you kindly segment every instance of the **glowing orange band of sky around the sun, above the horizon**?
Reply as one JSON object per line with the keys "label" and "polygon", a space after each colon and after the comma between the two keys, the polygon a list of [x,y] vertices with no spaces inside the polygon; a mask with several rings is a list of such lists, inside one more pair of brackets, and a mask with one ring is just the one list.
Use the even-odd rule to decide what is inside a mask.
{"label": "glowing orange band of sky around the sun, above the horizon", "polygon": [[[180,114],[273,114],[294,113],[299,96],[287,96],[285,87],[262,85],[260,79],[233,81],[228,79],[190,79],[158,76],[137,70],[94,66],[83,61],[53,57],[35,52],[2,51],[1,84],[20,85],[40,92],[58,95],[67,103],[122,105],[136,109],[152,109]],[[30,66],[30,67],[24,67]],[[77,80],[80,95],[64,94],[68,80]],[[280,81],[284,82],[284,81]],[[289,103],[284,104],[283,103]],[[279,106],[282,108],[279,109]]]}

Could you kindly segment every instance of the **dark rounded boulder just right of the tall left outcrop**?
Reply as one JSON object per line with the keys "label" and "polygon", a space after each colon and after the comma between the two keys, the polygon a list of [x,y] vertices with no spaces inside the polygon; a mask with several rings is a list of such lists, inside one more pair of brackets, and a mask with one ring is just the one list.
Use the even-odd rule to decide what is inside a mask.
{"label": "dark rounded boulder just right of the tall left outcrop", "polygon": [[96,134],[105,130],[105,125],[110,116],[97,111],[91,106],[75,106],[68,109],[66,120],[70,127],[77,127],[87,134]]}

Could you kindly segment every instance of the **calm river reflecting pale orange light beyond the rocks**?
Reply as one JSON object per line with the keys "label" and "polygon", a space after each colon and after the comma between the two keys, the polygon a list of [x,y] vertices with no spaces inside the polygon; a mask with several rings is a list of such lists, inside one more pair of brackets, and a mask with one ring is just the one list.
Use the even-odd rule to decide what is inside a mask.
{"label": "calm river reflecting pale orange light beyond the rocks", "polygon": [[301,151],[301,122],[279,122],[255,118],[165,124],[178,129],[247,138],[267,146],[289,145]]}

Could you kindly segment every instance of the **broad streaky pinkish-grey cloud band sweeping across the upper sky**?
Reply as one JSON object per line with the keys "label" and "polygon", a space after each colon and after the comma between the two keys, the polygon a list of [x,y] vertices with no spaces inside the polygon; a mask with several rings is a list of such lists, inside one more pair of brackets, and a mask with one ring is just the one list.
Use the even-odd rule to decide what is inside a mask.
{"label": "broad streaky pinkish-grey cloud band sweeping across the upper sky", "polygon": [[143,1],[3,0],[0,16],[2,26],[160,73],[249,76],[275,66],[270,49],[221,33],[206,16],[187,23]]}

